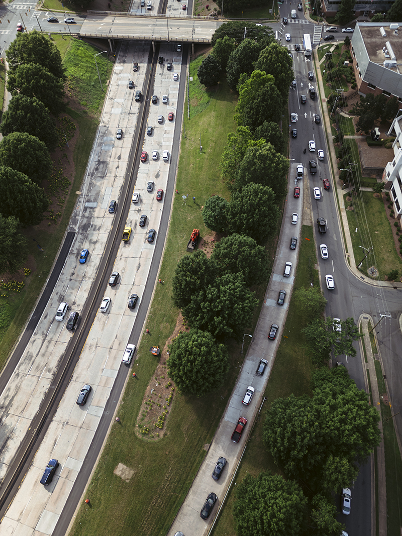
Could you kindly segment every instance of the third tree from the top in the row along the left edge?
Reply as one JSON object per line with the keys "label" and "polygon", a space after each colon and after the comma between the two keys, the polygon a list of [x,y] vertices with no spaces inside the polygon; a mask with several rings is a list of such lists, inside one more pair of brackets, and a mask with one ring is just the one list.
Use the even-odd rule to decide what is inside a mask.
{"label": "third tree from the top in the row along the left edge", "polygon": [[16,95],[10,100],[2,117],[0,132],[3,136],[11,132],[27,132],[44,142],[50,152],[57,146],[57,130],[49,110],[38,99],[24,95]]}

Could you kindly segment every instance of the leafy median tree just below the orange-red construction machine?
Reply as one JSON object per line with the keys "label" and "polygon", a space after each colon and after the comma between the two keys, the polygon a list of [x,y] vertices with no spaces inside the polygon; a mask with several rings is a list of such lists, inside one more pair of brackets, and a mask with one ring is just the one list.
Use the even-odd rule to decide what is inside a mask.
{"label": "leafy median tree just below the orange-red construction machine", "polygon": [[176,266],[172,282],[173,303],[182,309],[191,302],[194,293],[212,284],[218,271],[214,262],[207,258],[204,251],[184,255]]}

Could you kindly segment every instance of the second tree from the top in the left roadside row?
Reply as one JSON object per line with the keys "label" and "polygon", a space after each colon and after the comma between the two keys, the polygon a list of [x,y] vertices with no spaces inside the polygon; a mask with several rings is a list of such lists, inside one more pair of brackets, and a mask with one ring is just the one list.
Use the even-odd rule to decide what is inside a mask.
{"label": "second tree from the top in the left roadside row", "polygon": [[18,65],[7,77],[12,96],[25,95],[40,100],[53,115],[64,109],[64,80],[37,63]]}

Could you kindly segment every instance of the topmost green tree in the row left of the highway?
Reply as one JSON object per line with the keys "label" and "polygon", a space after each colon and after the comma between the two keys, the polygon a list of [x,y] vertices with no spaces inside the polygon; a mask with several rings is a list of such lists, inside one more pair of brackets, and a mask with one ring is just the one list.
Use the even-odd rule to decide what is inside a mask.
{"label": "topmost green tree in the row left of the highway", "polygon": [[[81,3],[80,0],[80,5]],[[5,51],[5,55],[10,68],[9,74],[19,65],[37,63],[56,78],[65,79],[62,56],[55,43],[48,39],[47,34],[36,30],[18,33]]]}

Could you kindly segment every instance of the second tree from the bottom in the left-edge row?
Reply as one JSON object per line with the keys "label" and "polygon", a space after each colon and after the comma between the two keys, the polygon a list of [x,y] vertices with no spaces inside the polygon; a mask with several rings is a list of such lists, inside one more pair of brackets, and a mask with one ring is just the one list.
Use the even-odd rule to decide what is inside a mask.
{"label": "second tree from the bottom in the left-edge row", "polygon": [[8,167],[0,167],[1,213],[4,218],[14,216],[23,226],[38,225],[43,219],[43,211],[49,206],[43,188],[29,178]]}

